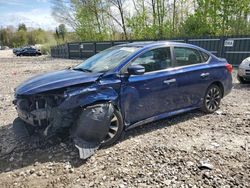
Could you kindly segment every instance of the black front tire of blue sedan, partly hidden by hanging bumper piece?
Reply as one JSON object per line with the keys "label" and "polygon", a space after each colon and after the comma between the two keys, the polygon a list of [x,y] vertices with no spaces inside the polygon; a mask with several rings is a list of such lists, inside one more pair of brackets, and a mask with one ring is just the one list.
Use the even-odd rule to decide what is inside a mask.
{"label": "black front tire of blue sedan, partly hidden by hanging bumper piece", "polygon": [[[110,138],[110,136],[107,135],[107,137],[105,138],[105,140],[101,144],[102,147],[107,147],[107,146],[111,146],[111,145],[115,144],[121,138],[121,136],[123,134],[123,131],[124,131],[123,118],[122,118],[121,113],[116,108],[114,108],[114,113],[113,113],[113,116],[111,118],[111,121],[114,117],[117,118],[117,121],[116,121],[117,124],[115,125],[117,127],[117,130],[116,130],[116,132],[113,132],[114,135],[112,138]],[[110,127],[109,127],[109,134],[112,133],[111,126],[112,126],[112,124],[110,124]]]}

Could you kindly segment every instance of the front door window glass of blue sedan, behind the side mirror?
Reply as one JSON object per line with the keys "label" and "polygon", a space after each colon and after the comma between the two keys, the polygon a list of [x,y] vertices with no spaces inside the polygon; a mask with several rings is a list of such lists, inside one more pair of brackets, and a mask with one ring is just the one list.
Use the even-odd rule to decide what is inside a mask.
{"label": "front door window glass of blue sedan, behind the side mirror", "polygon": [[167,69],[172,66],[170,48],[158,48],[145,52],[136,58],[131,65],[142,65],[145,72]]}

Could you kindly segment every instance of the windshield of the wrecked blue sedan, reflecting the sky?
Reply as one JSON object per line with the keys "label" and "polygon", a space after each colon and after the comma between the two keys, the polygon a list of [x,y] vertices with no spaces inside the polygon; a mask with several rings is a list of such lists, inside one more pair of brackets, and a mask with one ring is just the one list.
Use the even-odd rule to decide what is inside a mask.
{"label": "windshield of the wrecked blue sedan, reflecting the sky", "polygon": [[112,47],[90,57],[73,69],[86,72],[106,72],[117,67],[138,49],[138,47]]}

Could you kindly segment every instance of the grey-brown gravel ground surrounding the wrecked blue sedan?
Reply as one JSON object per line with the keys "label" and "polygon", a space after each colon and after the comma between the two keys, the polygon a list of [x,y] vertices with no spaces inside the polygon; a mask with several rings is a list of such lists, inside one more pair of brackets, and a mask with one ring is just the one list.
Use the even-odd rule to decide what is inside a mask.
{"label": "grey-brown gravel ground surrounding the wrecked blue sedan", "polygon": [[38,73],[77,63],[44,56],[0,58],[1,188],[250,187],[250,85],[235,79],[216,113],[196,110],[138,127],[85,161],[70,140],[39,148],[17,140],[14,88]]}

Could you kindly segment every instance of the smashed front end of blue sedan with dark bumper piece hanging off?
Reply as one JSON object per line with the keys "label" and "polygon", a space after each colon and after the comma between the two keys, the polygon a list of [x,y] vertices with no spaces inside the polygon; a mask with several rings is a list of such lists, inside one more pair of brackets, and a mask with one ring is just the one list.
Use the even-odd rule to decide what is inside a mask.
{"label": "smashed front end of blue sedan with dark bumper piece hanging off", "polygon": [[80,158],[86,159],[93,155],[108,134],[111,115],[114,112],[113,105],[105,102],[84,108],[62,110],[55,102],[47,100],[48,98],[19,98],[14,104],[18,116],[39,130],[43,136],[55,135],[58,130],[68,128],[79,150]]}

